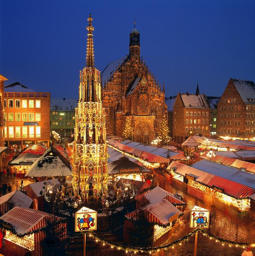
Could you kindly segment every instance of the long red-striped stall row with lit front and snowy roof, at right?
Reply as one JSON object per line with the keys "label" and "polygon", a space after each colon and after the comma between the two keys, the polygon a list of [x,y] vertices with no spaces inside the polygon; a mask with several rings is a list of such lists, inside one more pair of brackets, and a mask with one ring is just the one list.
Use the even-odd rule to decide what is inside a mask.
{"label": "long red-striped stall row with lit front and snowy roof, at right", "polygon": [[252,173],[209,160],[191,166],[172,162],[167,170],[177,183],[187,183],[188,192],[203,201],[216,199],[241,212],[250,209],[250,196],[255,194]]}

